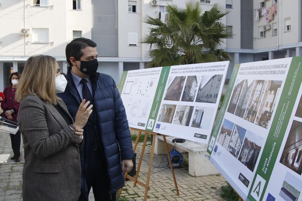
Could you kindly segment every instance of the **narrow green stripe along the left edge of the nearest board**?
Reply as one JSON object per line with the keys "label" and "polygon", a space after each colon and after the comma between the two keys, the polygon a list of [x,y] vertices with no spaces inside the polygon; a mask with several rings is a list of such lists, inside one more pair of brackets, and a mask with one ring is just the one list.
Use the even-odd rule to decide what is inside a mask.
{"label": "narrow green stripe along the left edge of the nearest board", "polygon": [[[236,82],[236,77],[237,77],[239,68],[240,68],[240,64],[236,64],[234,66],[234,68],[233,68],[233,73],[231,75],[230,82],[229,82],[228,87],[226,89],[226,94],[224,96],[224,99],[223,99],[223,102],[222,102],[222,106],[221,106],[219,114],[217,116],[216,124],[214,126],[214,129],[213,129],[213,132],[212,132],[212,135],[211,135],[211,139],[214,139],[214,138],[216,139],[217,136],[218,136],[218,132],[219,132],[220,126],[222,124],[222,120],[223,120],[224,114],[226,112],[226,107],[227,107],[227,104],[228,104],[228,102],[230,100],[231,93],[232,93],[233,87],[234,87],[235,82]],[[214,145],[215,145],[215,141],[214,140],[210,140],[209,141],[209,145],[208,145],[208,149],[207,149],[207,152],[210,155],[212,154]]]}

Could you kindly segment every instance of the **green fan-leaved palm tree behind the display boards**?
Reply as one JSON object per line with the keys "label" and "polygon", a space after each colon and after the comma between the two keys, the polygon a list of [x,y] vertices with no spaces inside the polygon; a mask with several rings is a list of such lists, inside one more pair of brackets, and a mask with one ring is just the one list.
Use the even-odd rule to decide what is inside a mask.
{"label": "green fan-leaved palm tree behind the display boards", "polygon": [[214,4],[202,14],[198,2],[187,2],[186,8],[168,5],[166,10],[165,23],[148,15],[144,19],[151,25],[142,40],[150,45],[148,67],[231,60],[223,49],[217,49],[232,36],[220,21],[228,13],[223,7]]}

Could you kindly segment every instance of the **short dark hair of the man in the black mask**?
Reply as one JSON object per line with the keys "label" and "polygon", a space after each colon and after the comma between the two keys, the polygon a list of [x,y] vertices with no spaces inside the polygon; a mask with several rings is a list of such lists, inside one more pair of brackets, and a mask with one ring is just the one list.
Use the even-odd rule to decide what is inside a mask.
{"label": "short dark hair of the man in the black mask", "polygon": [[82,49],[84,49],[85,47],[96,47],[96,43],[88,38],[81,37],[73,39],[66,46],[66,60],[70,66],[72,66],[72,63],[70,62],[70,57],[74,57],[77,61],[79,61],[80,58],[83,56]]}

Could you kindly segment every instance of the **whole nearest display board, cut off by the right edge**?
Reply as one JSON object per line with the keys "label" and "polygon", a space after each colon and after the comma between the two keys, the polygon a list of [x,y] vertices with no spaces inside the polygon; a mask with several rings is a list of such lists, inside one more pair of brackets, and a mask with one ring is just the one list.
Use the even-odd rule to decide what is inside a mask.
{"label": "whole nearest display board, cut off by the right edge", "polygon": [[302,199],[301,63],[296,57],[234,68],[208,152],[243,199]]}

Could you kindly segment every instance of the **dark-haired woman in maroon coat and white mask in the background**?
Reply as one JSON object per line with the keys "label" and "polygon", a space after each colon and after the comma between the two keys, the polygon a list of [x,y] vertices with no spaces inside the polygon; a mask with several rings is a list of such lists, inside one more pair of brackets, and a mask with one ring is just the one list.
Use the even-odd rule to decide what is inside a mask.
{"label": "dark-haired woman in maroon coat and white mask in the background", "polygon": [[[2,117],[11,121],[17,122],[17,115],[19,111],[20,103],[16,102],[15,94],[18,86],[18,81],[21,78],[21,74],[18,72],[11,73],[8,78],[9,86],[3,90],[4,101],[1,103],[3,110]],[[16,134],[10,134],[11,136],[11,148],[13,149],[14,156],[11,160],[20,162],[20,144],[21,144],[21,133],[20,130]]]}

